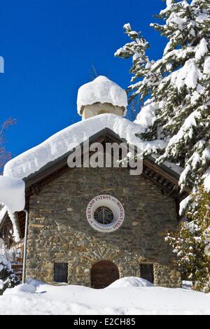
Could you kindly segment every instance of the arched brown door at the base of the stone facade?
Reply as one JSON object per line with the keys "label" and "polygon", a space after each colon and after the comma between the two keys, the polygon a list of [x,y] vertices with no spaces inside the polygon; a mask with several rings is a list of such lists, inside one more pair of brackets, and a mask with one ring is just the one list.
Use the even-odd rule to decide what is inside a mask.
{"label": "arched brown door at the base of the stone facade", "polygon": [[100,260],[90,271],[91,288],[102,289],[120,278],[118,267],[109,260]]}

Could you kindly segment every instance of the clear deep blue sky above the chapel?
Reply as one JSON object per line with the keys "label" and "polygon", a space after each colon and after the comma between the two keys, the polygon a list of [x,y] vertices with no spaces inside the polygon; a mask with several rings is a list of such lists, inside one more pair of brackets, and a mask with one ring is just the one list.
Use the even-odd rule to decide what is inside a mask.
{"label": "clear deep blue sky above the chapel", "polygon": [[162,56],[165,39],[149,27],[161,0],[7,0],[0,5],[1,122],[15,118],[6,148],[16,156],[80,120],[77,90],[91,80],[92,65],[126,88],[130,62],[113,53],[129,39],[130,22]]}

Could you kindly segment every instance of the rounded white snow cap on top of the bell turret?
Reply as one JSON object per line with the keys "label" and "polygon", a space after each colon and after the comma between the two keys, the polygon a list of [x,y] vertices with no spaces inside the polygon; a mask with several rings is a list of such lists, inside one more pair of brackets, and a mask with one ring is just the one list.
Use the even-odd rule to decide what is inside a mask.
{"label": "rounded white snow cap on top of the bell turret", "polygon": [[100,102],[114,106],[127,107],[127,94],[123,88],[106,78],[98,76],[90,83],[82,85],[78,90],[77,109],[80,114],[82,106]]}

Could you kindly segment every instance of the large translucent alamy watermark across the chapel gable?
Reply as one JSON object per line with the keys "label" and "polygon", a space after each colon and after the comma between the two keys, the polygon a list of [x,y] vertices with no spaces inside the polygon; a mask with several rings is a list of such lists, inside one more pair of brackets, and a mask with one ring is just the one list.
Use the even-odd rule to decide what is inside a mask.
{"label": "large translucent alamy watermark across the chapel gable", "polygon": [[137,146],[126,143],[92,143],[89,139],[82,145],[72,143],[67,163],[70,168],[130,168],[130,175],[141,175],[143,159]]}

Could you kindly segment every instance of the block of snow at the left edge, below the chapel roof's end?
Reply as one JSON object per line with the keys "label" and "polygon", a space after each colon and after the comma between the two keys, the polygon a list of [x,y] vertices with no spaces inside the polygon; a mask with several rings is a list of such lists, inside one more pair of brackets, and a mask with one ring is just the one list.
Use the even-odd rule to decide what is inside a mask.
{"label": "block of snow at the left edge, below the chapel roof's end", "polygon": [[[0,176],[0,202],[11,212],[22,211],[25,208],[25,182]],[[5,211],[3,208],[2,213]]]}

